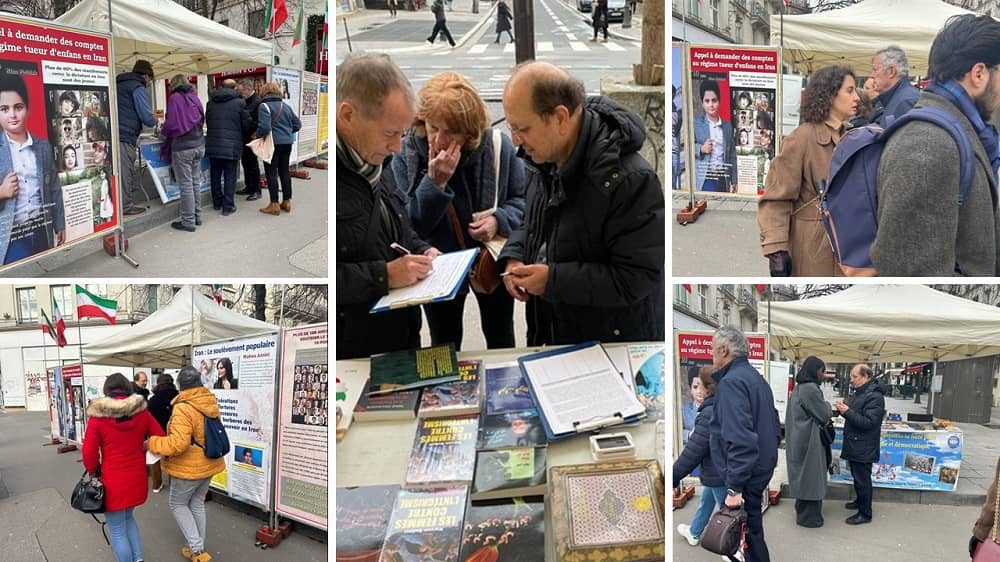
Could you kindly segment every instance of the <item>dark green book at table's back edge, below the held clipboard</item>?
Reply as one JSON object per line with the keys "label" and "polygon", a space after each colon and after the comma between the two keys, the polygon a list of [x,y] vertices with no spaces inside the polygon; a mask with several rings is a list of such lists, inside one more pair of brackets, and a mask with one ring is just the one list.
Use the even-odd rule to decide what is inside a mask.
{"label": "dark green book at table's back edge, below the held clipboard", "polygon": [[368,394],[411,390],[457,381],[455,345],[436,345],[372,355]]}

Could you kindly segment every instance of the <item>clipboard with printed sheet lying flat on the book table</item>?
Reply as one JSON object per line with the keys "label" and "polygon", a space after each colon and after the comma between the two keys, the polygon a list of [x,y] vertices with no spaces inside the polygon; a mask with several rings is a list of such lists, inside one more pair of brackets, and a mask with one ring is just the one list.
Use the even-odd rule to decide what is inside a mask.
{"label": "clipboard with printed sheet lying flat on the book table", "polygon": [[549,441],[632,423],[646,415],[599,343],[532,353],[517,362]]}

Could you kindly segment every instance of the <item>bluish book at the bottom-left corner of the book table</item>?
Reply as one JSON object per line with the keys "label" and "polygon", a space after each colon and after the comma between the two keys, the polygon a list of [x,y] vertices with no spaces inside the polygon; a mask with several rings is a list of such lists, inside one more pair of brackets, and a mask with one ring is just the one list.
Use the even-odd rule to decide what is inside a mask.
{"label": "bluish book at the bottom-left corner of the book table", "polygon": [[337,488],[337,562],[378,562],[399,485]]}

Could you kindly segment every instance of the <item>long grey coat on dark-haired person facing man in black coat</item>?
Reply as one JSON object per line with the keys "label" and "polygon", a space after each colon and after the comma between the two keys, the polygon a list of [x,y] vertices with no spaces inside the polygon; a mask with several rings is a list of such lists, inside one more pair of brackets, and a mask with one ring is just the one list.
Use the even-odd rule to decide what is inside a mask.
{"label": "long grey coat on dark-haired person facing man in black coat", "polygon": [[830,421],[833,408],[823,400],[816,383],[799,383],[785,411],[785,460],[788,488],[799,500],[826,497],[826,450],[820,428]]}

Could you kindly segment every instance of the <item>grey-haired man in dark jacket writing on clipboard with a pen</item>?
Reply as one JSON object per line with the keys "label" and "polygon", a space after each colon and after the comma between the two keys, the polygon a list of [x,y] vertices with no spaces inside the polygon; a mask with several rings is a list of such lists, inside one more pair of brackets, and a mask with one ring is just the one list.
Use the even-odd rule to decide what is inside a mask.
{"label": "grey-haired man in dark jacket writing on clipboard with a pen", "polygon": [[440,253],[413,231],[389,168],[415,105],[388,55],[352,53],[337,67],[338,359],[420,346],[419,307],[369,313],[389,289],[427,277]]}

